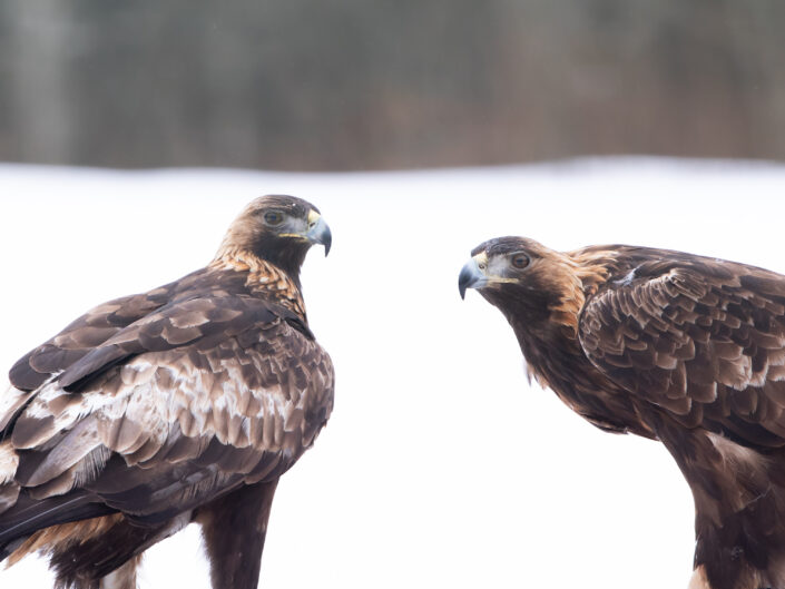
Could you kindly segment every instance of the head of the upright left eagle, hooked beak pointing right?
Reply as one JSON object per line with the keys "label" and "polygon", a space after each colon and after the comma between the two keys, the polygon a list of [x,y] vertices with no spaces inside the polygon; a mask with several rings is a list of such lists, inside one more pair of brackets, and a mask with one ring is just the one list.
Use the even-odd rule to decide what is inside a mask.
{"label": "head of the upright left eagle, hooked beak pointing right", "polygon": [[249,253],[297,275],[314,244],[330,253],[332,234],[318,209],[294,196],[267,195],[252,200],[232,223],[216,258]]}

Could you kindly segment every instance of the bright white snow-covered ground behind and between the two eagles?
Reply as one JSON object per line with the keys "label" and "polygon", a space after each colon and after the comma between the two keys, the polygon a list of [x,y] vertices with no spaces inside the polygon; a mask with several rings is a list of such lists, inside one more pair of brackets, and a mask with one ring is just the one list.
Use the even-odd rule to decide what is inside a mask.
{"label": "bright white snow-covered ground behind and between the two eagles", "polygon": [[[686,587],[693,504],[657,443],[530,386],[512,331],[458,272],[480,242],[631,243],[785,273],[785,166],[664,159],[386,174],[0,166],[0,365],[88,307],[208,262],[244,204],[316,204],[303,274],[336,365],[333,419],[278,487],[266,588]],[[198,530],[144,588],[207,588]],[[43,561],[0,587],[47,587]]]}

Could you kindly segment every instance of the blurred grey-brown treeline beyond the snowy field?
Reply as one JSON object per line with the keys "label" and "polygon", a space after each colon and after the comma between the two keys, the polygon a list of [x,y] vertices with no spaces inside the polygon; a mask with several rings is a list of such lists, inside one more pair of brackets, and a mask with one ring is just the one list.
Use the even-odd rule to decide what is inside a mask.
{"label": "blurred grey-brown treeline beyond the snowy field", "polygon": [[0,160],[785,158],[783,0],[2,0]]}

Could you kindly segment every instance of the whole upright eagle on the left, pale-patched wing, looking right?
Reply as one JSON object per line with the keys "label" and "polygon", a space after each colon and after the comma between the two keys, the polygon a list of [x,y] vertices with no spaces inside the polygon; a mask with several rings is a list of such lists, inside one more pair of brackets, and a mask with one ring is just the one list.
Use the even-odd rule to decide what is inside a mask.
{"label": "whole upright eagle on the left, pale-patched wing, looking right", "polygon": [[205,268],[99,305],[32,350],[0,396],[0,560],[58,587],[136,587],[141,553],[202,524],[213,587],[258,582],[278,478],[333,406],[300,268],[315,207],[257,198]]}

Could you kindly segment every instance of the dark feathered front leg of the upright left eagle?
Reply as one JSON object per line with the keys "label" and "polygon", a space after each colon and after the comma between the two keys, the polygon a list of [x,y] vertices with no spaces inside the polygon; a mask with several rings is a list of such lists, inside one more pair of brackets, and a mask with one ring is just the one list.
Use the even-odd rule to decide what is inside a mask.
{"label": "dark feathered front leg of the upright left eagle", "polygon": [[242,487],[199,509],[213,589],[256,589],[278,481]]}

